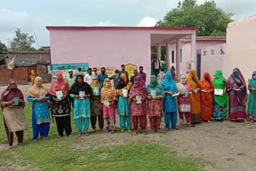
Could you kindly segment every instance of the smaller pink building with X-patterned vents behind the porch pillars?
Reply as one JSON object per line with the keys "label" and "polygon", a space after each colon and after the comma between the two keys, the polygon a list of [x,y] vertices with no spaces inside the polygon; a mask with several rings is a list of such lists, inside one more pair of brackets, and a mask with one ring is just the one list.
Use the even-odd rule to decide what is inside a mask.
{"label": "smaller pink building with X-patterned vents behind the porch pillars", "polygon": [[[196,38],[197,58],[191,58],[192,44],[190,38],[184,38],[179,48],[180,72],[188,74],[190,69],[198,70],[199,78],[204,72],[214,74],[223,69],[223,60],[226,57],[226,37],[198,36]],[[170,66],[176,67],[176,44],[170,44]],[[170,68],[169,68],[170,70]]]}

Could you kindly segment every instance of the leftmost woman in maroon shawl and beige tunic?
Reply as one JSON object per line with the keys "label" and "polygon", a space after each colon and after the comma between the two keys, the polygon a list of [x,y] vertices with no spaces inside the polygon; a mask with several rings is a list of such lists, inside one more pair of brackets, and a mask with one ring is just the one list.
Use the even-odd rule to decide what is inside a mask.
{"label": "leftmost woman in maroon shawl and beige tunic", "polygon": [[16,81],[10,79],[8,87],[2,92],[1,96],[3,122],[10,148],[13,146],[14,133],[18,137],[18,144],[23,142],[23,134],[26,129],[26,118],[23,113],[24,106],[22,91],[17,88]]}

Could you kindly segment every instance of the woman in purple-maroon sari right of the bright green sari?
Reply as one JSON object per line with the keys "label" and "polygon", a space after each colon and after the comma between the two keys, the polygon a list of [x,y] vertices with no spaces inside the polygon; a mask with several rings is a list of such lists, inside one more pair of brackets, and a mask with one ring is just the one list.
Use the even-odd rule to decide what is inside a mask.
{"label": "woman in purple-maroon sari right of the bright green sari", "polygon": [[238,68],[233,70],[226,84],[230,96],[230,121],[246,121],[246,82]]}

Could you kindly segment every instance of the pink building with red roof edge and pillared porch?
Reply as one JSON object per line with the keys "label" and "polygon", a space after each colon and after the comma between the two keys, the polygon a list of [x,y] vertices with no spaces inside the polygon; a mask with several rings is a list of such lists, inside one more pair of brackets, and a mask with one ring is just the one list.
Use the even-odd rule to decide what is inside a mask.
{"label": "pink building with red roof edge and pillared porch", "polygon": [[[196,61],[198,28],[47,26],[46,29],[50,31],[52,64],[88,63],[90,67],[115,69],[122,64],[134,64],[144,66],[149,82],[150,47],[167,45],[170,64],[170,43],[176,42],[179,47],[181,39],[186,37],[192,39],[190,53],[186,55]],[[177,54],[177,60],[179,57]],[[178,68],[179,65],[177,75]]]}

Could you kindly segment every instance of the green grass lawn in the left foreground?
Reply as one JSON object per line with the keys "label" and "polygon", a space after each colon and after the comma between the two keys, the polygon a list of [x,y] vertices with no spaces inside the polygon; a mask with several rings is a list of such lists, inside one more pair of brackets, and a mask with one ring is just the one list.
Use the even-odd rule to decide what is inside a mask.
{"label": "green grass lawn in the left foreground", "polygon": [[[29,125],[26,143],[0,152],[0,170],[203,170],[194,159],[177,157],[166,147],[145,141],[99,149],[78,149],[74,143],[86,144],[85,139],[59,138],[55,125],[49,140],[32,141],[31,104],[26,104]],[[6,144],[6,133],[0,117],[0,144]],[[74,121],[72,122],[75,129]],[[98,143],[102,133],[98,133]],[[125,136],[125,135],[124,135]],[[140,135],[138,135],[140,136]],[[167,136],[167,135],[166,135]],[[15,137],[16,139],[16,137]],[[97,143],[95,143],[97,145]]]}

